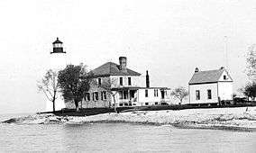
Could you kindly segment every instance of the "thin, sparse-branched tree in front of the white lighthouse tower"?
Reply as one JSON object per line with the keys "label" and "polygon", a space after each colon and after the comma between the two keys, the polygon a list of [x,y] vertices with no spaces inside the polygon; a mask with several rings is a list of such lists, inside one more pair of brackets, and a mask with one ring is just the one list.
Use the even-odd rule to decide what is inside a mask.
{"label": "thin, sparse-branched tree in front of the white lighthouse tower", "polygon": [[55,112],[55,100],[58,98],[57,93],[59,92],[57,76],[57,72],[49,69],[37,85],[39,90],[45,94],[50,102],[52,102],[53,112]]}

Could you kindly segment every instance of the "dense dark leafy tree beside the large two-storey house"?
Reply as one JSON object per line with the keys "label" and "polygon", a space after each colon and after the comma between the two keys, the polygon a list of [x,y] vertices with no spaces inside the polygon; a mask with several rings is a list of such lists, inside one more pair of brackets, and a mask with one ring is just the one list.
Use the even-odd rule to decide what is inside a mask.
{"label": "dense dark leafy tree beside the large two-storey house", "polygon": [[89,73],[83,64],[79,66],[68,65],[59,71],[60,91],[65,101],[75,103],[77,111],[79,111],[78,103],[81,102],[82,105],[84,94],[89,90],[90,81]]}

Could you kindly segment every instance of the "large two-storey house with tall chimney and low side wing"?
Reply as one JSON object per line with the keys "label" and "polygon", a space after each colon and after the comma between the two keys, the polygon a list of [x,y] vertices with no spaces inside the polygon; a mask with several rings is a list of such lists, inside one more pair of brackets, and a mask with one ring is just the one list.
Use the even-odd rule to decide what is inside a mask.
{"label": "large two-storey house with tall chimney and low side wing", "polygon": [[[126,67],[127,58],[120,57],[119,65],[107,62],[92,70],[93,83],[80,107],[144,106],[170,103],[167,87],[151,87],[148,71],[146,79]],[[145,84],[146,85],[145,85]],[[66,103],[74,108],[73,103]]]}

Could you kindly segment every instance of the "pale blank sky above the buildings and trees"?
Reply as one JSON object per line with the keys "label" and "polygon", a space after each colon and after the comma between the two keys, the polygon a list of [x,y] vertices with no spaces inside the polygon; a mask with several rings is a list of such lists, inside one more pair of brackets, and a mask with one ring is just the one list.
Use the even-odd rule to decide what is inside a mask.
{"label": "pale blank sky above the buildings and trees", "polygon": [[1,0],[0,21],[0,113],[44,111],[36,83],[56,37],[69,63],[93,69],[126,56],[152,86],[187,87],[195,67],[228,67],[234,93],[256,43],[255,0]]}

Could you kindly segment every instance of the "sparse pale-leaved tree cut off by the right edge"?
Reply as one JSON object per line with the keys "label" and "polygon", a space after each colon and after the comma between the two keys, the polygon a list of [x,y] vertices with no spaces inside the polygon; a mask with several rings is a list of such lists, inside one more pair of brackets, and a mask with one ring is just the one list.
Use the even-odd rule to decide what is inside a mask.
{"label": "sparse pale-leaved tree cut off by the right edge", "polygon": [[247,62],[246,75],[249,76],[249,78],[252,81],[255,81],[256,80],[256,44],[251,45],[251,47],[248,49],[246,62]]}

